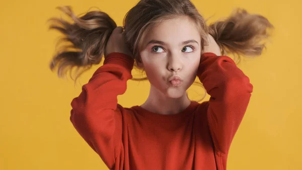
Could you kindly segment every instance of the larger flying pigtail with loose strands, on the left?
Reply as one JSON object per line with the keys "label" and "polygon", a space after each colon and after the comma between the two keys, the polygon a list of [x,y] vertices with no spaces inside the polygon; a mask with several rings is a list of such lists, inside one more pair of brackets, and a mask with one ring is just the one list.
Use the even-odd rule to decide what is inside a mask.
{"label": "larger flying pigtail with loose strands, on the left", "polygon": [[[101,62],[107,41],[116,23],[104,12],[91,11],[82,17],[74,15],[70,7],[58,7],[72,22],[60,18],[51,18],[49,28],[63,34],[58,42],[60,48],[50,62],[50,69],[57,70],[59,77],[77,79],[84,71]],[[77,71],[72,75],[72,69]]]}

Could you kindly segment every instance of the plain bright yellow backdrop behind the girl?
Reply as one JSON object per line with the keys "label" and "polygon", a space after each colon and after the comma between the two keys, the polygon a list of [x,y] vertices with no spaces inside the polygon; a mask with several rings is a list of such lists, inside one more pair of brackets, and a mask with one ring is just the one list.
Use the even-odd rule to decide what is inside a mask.
{"label": "plain bright yellow backdrop behind the girl", "polygon": [[[69,122],[71,99],[81,85],[58,79],[48,62],[59,35],[46,20],[60,16],[55,7],[71,5],[77,14],[90,7],[107,12],[121,25],[133,0],[52,0],[0,2],[0,169],[107,169]],[[275,26],[272,43],[254,60],[239,67],[254,92],[231,147],[228,169],[302,169],[301,17],[298,0],[193,1],[204,17],[228,16],[237,7],[267,17]],[[147,82],[129,82],[119,96],[125,107],[141,104]],[[194,87],[193,90],[201,90]]]}

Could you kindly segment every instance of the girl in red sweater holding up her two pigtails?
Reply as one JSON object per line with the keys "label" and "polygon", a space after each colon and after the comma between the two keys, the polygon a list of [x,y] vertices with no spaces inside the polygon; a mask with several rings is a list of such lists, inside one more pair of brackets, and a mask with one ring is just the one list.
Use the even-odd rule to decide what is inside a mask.
{"label": "girl in red sweater holding up her two pigtails", "polygon": [[[52,19],[63,46],[51,62],[68,70],[104,65],[71,102],[70,120],[110,169],[226,169],[232,139],[247,109],[252,85],[228,56],[259,55],[272,25],[239,10],[207,26],[189,0],[141,0],[124,19],[124,28],[105,13],[74,23]],[[133,64],[145,71],[150,93],[140,106],[124,108]],[[82,70],[83,71],[83,70]],[[191,101],[186,90],[196,76],[209,101]]]}

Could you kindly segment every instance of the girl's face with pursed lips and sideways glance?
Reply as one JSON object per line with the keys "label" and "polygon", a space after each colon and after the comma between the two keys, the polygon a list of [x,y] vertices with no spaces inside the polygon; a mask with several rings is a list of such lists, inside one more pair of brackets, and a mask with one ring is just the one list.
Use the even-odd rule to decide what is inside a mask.
{"label": "girl's face with pursed lips and sideways glance", "polygon": [[200,33],[189,17],[165,20],[146,35],[140,52],[151,89],[179,98],[193,84],[201,55]]}

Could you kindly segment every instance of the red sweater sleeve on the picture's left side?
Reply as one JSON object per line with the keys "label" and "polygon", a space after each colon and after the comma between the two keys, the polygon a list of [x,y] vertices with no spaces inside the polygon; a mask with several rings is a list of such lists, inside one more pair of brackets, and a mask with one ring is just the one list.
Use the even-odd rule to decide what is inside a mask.
{"label": "red sweater sleeve on the picture's left side", "polygon": [[114,166],[119,154],[117,146],[122,133],[117,95],[126,91],[126,82],[132,78],[132,67],[133,60],[129,56],[109,54],[104,65],[71,102],[71,123],[109,168]]}

